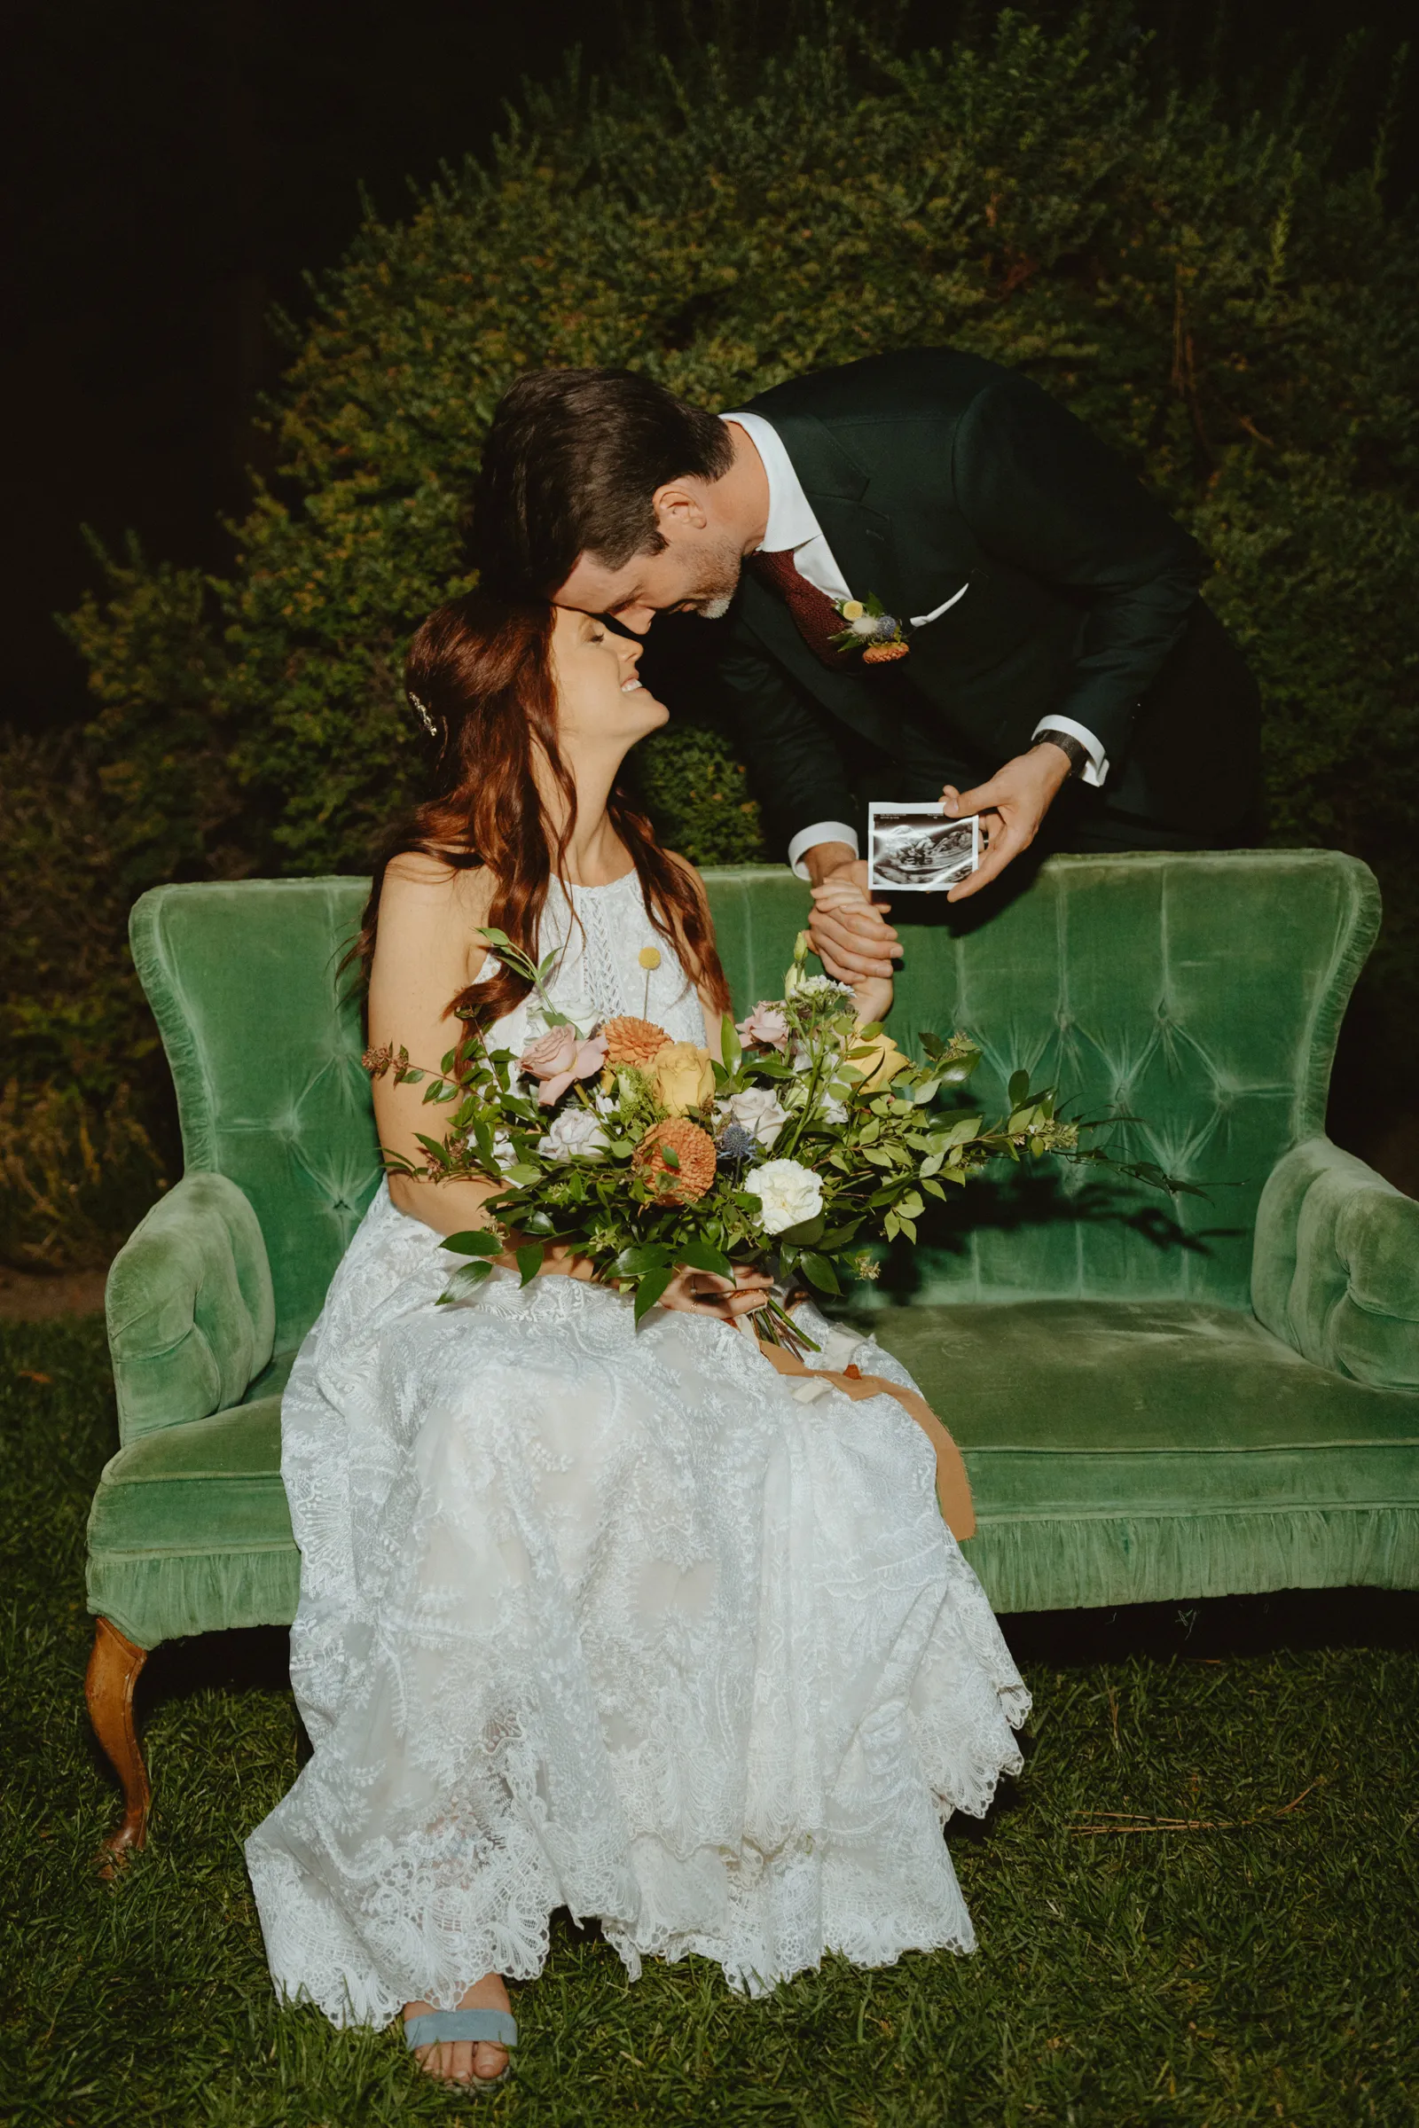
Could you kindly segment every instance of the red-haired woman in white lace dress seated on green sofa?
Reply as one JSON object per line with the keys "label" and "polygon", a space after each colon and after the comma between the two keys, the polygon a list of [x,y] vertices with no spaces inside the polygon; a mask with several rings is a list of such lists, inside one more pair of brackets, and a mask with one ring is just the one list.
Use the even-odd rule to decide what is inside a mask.
{"label": "red-haired woman in white lace dress seated on green sofa", "polygon": [[[438,1064],[457,1011],[521,1051],[540,1021],[494,926],[560,955],[560,1011],[717,1049],[702,887],[617,789],[666,721],[638,660],[585,613],[477,594],[423,624],[408,692],[445,781],[366,911],[372,1045]],[[417,1156],[432,1113],[377,1081],[387,1149]],[[925,1434],[891,1396],[800,1402],[742,1334],[753,1273],[681,1273],[638,1330],[566,1258],[440,1307],[438,1238],[487,1194],[389,1179],[285,1392],[315,1749],[247,1843],[279,1994],[402,2013],[423,2068],[487,2085],[555,1907],[632,1977],[694,1951],[749,1994],[828,1949],[970,1949],[940,1826],[1019,1766],[1030,1702]]]}

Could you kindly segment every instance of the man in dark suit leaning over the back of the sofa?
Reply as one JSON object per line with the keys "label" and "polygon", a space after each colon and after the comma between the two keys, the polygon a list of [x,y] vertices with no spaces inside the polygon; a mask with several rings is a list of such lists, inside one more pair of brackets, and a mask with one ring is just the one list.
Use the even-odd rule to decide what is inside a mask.
{"label": "man in dark suit leaning over the back of the sofa", "polygon": [[[474,504],[483,581],[606,613],[728,617],[719,675],[813,881],[815,947],[889,975],[866,798],[981,813],[976,894],[1051,849],[1206,849],[1257,807],[1255,683],[1196,543],[1025,377],[915,349],[708,415],[628,370],[540,370],[498,406]],[[834,645],[877,600],[896,641]],[[870,655],[874,651],[874,655]],[[842,885],[857,894],[842,894]]]}

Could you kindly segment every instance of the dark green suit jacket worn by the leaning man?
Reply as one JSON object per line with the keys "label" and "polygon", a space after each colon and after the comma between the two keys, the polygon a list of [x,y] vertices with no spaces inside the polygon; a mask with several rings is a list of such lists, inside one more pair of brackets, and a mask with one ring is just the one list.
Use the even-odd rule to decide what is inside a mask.
{"label": "dark green suit jacket worn by the leaning man", "polygon": [[721,679],[783,834],[883,796],[979,781],[1066,715],[1111,760],[1098,800],[1223,830],[1253,804],[1255,687],[1198,587],[1198,545],[1030,379],[953,349],[874,355],[747,409],[783,438],[855,598],[906,621],[964,596],[911,655],[828,670],[745,572]]}

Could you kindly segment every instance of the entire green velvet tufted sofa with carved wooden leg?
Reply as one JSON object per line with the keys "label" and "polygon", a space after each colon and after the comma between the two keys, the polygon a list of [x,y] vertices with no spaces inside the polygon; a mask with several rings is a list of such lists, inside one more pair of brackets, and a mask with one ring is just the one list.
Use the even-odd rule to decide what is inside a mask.
{"label": "entire green velvet tufted sofa with carved wooden leg", "polygon": [[[706,885],[747,1009],[779,990],[804,890],[783,868]],[[185,1175],[108,1277],[121,1447],[89,1519],[89,1707],[119,1847],[147,1813],[145,1653],[296,1607],[281,1385],[379,1183],[338,975],[364,892],[177,885],[132,915]],[[1330,851],[1055,858],[987,921],[902,924],[904,1045],[966,1030],[987,1107],[1025,1066],[1136,1113],[1136,1149],[1206,1190],[1030,1166],[853,1302],[964,1449],[1000,1611],[1419,1585],[1419,1202],[1323,1136],[1376,924],[1370,872]]]}

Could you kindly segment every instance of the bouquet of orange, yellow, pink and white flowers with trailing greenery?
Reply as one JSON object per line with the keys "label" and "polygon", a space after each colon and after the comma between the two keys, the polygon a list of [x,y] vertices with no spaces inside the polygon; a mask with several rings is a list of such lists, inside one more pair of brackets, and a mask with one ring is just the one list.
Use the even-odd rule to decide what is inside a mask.
{"label": "bouquet of orange, yellow, pink and white flowers with trailing greenery", "polygon": [[[551,955],[538,966],[504,932],[483,936],[532,983],[536,1032],[521,1055],[470,1032],[438,1073],[404,1049],[364,1058],[377,1077],[428,1079],[423,1100],[451,1109],[443,1136],[419,1134],[421,1162],[385,1156],[391,1173],[496,1185],[494,1224],[443,1243],[466,1258],[445,1300],[508,1249],[525,1285],[555,1245],[634,1294],[636,1321],[681,1264],[721,1277],[747,1264],[783,1290],[838,1294],[845,1279],[877,1277],[870,1243],[915,1241],[928,1198],[1000,1158],[1057,1153],[1185,1187],[1081,1143],[1102,1126],[1066,1121],[1028,1073],[1011,1079],[1008,1115],[985,1128],[959,1092],[981,1062],[972,1043],[923,1034],[925,1064],[913,1064],[881,1026],[855,1024],[851,990],[806,972],[806,932],[783,996],[738,1026],[725,1015],[719,1055],[651,1019],[570,1017],[547,996]],[[804,1343],[777,1298],[757,1328]]]}

